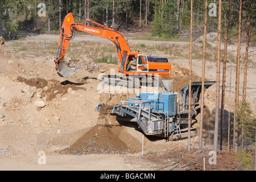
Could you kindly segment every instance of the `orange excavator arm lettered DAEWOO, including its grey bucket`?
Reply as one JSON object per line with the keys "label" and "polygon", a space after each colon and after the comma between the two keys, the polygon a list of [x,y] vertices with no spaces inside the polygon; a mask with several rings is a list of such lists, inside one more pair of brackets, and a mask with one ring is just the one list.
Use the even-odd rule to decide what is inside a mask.
{"label": "orange excavator arm lettered DAEWOO, including its grey bucket", "polygon": [[55,68],[57,70],[57,73],[61,77],[71,77],[75,75],[75,73],[79,72],[82,68],[81,66],[77,66],[75,68],[69,67],[68,64],[64,63],[63,61],[69,41],[72,39],[73,36],[73,30],[83,31],[111,40],[115,44],[115,46],[117,46],[119,60],[122,60],[122,57],[125,53],[131,52],[131,49],[129,48],[129,45],[127,44],[125,38],[118,31],[115,31],[102,24],[93,22],[90,19],[82,18],[81,16],[79,17],[85,19],[87,22],[95,24],[97,27],[88,26],[81,23],[75,23],[74,16],[78,15],[75,15],[73,13],[67,14],[60,30],[60,39],[55,59]]}

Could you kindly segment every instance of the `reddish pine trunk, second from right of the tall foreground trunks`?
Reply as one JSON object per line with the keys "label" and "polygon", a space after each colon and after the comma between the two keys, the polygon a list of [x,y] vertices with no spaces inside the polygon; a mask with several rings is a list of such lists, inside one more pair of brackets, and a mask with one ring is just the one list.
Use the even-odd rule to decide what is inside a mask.
{"label": "reddish pine trunk, second from right of the tall foreground trunks", "polygon": [[239,102],[241,22],[242,22],[242,0],[240,0],[240,9],[239,9],[237,71],[236,71],[236,96],[235,96],[235,104],[234,104],[235,108],[234,108],[233,147],[234,147],[235,152],[238,151],[236,121],[237,121],[237,110],[238,110],[238,102]]}

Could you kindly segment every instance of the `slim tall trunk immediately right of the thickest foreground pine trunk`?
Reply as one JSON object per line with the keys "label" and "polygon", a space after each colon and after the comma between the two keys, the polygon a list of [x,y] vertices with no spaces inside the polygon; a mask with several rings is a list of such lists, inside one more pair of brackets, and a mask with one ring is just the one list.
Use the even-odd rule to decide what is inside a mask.
{"label": "slim tall trunk immediately right of the thickest foreground pine trunk", "polygon": [[223,127],[223,121],[224,121],[225,85],[226,85],[226,51],[228,47],[229,7],[230,7],[230,0],[228,0],[228,7],[226,10],[227,12],[226,12],[225,46],[224,46],[224,61],[223,61],[223,75],[222,75],[222,95],[221,95],[221,116],[220,116],[220,150],[222,150],[222,127]]}

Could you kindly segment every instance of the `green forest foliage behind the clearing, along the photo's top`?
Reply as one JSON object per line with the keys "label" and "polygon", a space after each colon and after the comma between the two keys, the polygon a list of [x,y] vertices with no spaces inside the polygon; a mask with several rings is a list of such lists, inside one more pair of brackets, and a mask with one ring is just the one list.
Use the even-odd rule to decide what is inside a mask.
{"label": "green forest foliage behind the clearing, along the photo's top", "polygon": [[[39,8],[37,5],[40,2],[46,3],[46,17],[38,16]],[[85,17],[85,1],[83,0],[69,0],[61,1],[61,22],[68,12],[75,13]],[[89,18],[98,23],[104,24],[106,22],[106,5],[108,5],[108,26],[112,24],[113,0],[90,0],[89,2]],[[140,14],[140,2],[133,0],[114,0],[115,7],[115,28],[126,27],[131,25],[138,25]],[[180,32],[189,30],[190,25],[190,9],[191,1],[184,0],[170,0],[159,1],[150,0],[148,2],[147,20],[151,27],[151,34],[155,38],[163,40],[173,40],[180,36]],[[249,0],[243,3],[242,30],[246,29],[247,10],[249,8]],[[36,3],[36,4],[35,4]],[[218,10],[217,1],[208,1],[215,3]],[[81,6],[80,6],[81,4]],[[230,9],[230,23],[229,23],[229,38],[236,40],[238,27],[238,4],[233,3]],[[142,1],[142,25],[145,25],[146,15],[146,0]],[[87,6],[87,5],[86,5]],[[204,6],[205,2],[201,0],[193,0],[193,26],[199,28],[196,34],[203,35],[204,24]],[[81,8],[81,9],[80,9]],[[222,36],[224,35],[224,22],[226,17],[227,2],[222,2]],[[251,6],[251,35],[255,34],[256,26],[256,3],[253,1]],[[209,8],[208,8],[209,10]],[[126,14],[127,13],[127,14]],[[19,36],[19,30],[27,31],[47,31],[48,17],[50,18],[51,31],[59,31],[59,1],[30,1],[30,0],[1,0],[0,1],[0,35],[4,35],[6,39],[16,39]],[[76,18],[76,22],[79,22]],[[81,19],[79,23],[84,23]],[[217,17],[208,16],[207,31],[214,32],[217,28]],[[189,33],[187,33],[189,34]],[[187,36],[184,36],[187,38]],[[252,36],[251,41],[256,42],[256,36]]]}

